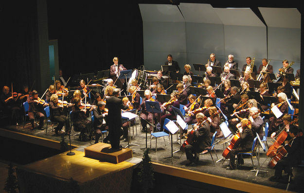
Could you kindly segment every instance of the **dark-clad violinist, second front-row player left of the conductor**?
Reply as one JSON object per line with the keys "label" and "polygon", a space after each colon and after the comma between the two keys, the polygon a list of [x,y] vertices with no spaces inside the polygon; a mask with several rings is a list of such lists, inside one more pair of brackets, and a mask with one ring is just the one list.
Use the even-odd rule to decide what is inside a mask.
{"label": "dark-clad violinist, second front-row player left of the conductor", "polygon": [[72,123],[74,125],[74,130],[75,131],[80,131],[79,135],[79,140],[81,141],[87,141],[86,137],[86,130],[89,129],[89,126],[91,125],[91,121],[87,119],[86,109],[81,109],[80,106],[80,98],[74,98],[73,103],[74,105],[72,106],[72,114],[71,114],[71,119]]}

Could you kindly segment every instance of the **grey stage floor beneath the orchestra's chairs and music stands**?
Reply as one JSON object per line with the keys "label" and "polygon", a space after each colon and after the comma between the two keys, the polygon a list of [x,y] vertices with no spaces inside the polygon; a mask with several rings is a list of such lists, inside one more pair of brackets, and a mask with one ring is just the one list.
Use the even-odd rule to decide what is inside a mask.
{"label": "grey stage floor beneath the orchestra's chairs and music stands", "polygon": [[[137,120],[137,123],[139,123],[139,120]],[[21,126],[12,125],[12,126],[7,126],[4,129],[10,130],[10,131],[16,131],[16,132],[20,132],[20,133],[40,137],[40,138],[45,138],[48,140],[60,141],[60,137],[54,135],[54,131],[52,131],[52,127],[50,127],[50,126],[48,128],[47,135],[45,134],[45,130],[44,131],[40,131],[40,130],[30,131],[29,125],[26,125],[26,127],[24,129],[22,127],[23,127],[23,125],[21,125]],[[136,135],[136,127],[134,126],[134,136],[133,136],[133,130],[131,127],[131,136],[132,136],[132,139],[130,142],[134,143],[134,144],[138,144],[138,146],[130,144],[129,148],[131,148],[133,150],[133,157],[142,158],[143,149],[145,148],[146,140],[145,140],[145,133],[141,132],[141,127],[139,124],[137,125],[137,135]],[[150,134],[148,133],[147,136],[148,136],[147,147],[150,147]],[[83,149],[85,147],[88,147],[89,145],[91,145],[89,141],[83,142],[83,141],[78,141],[77,139],[78,139],[78,136],[75,136],[75,137],[72,136],[71,143],[75,146],[79,146],[77,148],[77,150],[79,150],[79,151],[83,151]],[[68,142],[68,136],[66,136],[66,141]],[[94,141],[92,141],[92,142],[94,142]],[[101,142],[101,140],[100,140],[100,142]],[[189,167],[189,166],[185,165],[186,163],[188,163],[188,160],[186,159],[186,155],[182,152],[175,153],[174,157],[173,157],[173,162],[172,162],[171,143],[170,143],[168,137],[165,137],[165,142],[161,138],[159,138],[157,140],[157,151],[155,151],[155,142],[156,142],[155,138],[153,138],[152,139],[152,149],[149,152],[149,156],[151,157],[153,162],[165,164],[168,166],[174,166],[174,167],[178,167],[178,168],[182,168],[182,169],[188,169],[191,171],[201,172],[201,173],[205,173],[205,174],[211,174],[211,175],[217,175],[217,176],[221,176],[221,177],[241,180],[241,181],[250,182],[253,184],[259,184],[259,185],[264,185],[264,186],[268,186],[268,187],[278,188],[278,189],[282,189],[282,190],[286,189],[286,186],[287,186],[286,183],[271,182],[268,180],[268,178],[270,176],[274,175],[274,169],[268,168],[267,164],[268,164],[269,158],[267,159],[266,153],[264,153],[262,149],[260,150],[260,164],[262,165],[263,162],[266,159],[267,160],[262,165],[260,170],[265,170],[268,172],[260,171],[258,173],[258,175],[255,176],[256,173],[250,171],[252,169],[252,163],[251,163],[250,158],[244,158],[244,160],[245,160],[244,165],[241,165],[237,170],[226,170],[225,167],[229,164],[229,160],[226,160],[223,164],[222,164],[223,161],[219,161],[214,166],[212,158],[211,158],[210,154],[208,153],[205,155],[200,155],[197,166]],[[127,142],[123,142],[121,140],[121,145],[123,147],[125,147],[127,144],[128,144]],[[271,144],[271,140],[269,138],[268,138],[268,144]],[[180,147],[180,145],[177,142],[177,137],[176,137],[176,135],[174,135],[173,136],[173,151],[179,150],[179,147]],[[217,154],[218,158],[221,158],[223,148],[224,148],[223,145],[220,145],[220,144],[215,145],[215,150],[216,150],[216,154]],[[215,160],[217,159],[214,152],[213,152],[213,158]],[[257,158],[254,157],[253,162],[256,167]],[[284,173],[283,173],[283,175],[284,175]],[[304,168],[301,168],[301,167],[294,168],[293,175],[294,175],[293,182],[291,183],[289,190],[295,191],[295,192],[304,192],[304,183],[302,180],[302,179],[304,179]],[[218,183],[218,186],[225,187],[225,185],[221,184],[220,182]],[[248,191],[250,192],[250,190],[248,190]]]}

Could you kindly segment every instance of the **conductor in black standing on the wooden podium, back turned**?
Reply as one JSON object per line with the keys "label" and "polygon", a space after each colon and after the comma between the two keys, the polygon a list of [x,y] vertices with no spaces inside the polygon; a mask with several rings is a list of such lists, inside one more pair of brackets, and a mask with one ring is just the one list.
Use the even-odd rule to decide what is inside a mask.
{"label": "conductor in black standing on the wooden podium, back turned", "polygon": [[112,149],[119,149],[119,138],[122,136],[122,114],[121,109],[128,109],[130,102],[124,105],[123,101],[118,98],[119,89],[113,89],[113,96],[107,98],[106,108],[108,109],[108,127],[109,127],[109,139]]}

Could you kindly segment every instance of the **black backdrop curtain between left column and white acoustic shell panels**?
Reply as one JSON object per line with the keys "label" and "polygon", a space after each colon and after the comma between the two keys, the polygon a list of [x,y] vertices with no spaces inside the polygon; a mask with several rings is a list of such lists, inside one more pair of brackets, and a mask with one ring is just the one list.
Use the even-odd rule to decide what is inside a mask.
{"label": "black backdrop curtain between left column and white acoustic shell panels", "polygon": [[59,68],[66,77],[108,70],[114,56],[127,69],[143,64],[143,22],[136,2],[47,2],[49,38],[58,39]]}

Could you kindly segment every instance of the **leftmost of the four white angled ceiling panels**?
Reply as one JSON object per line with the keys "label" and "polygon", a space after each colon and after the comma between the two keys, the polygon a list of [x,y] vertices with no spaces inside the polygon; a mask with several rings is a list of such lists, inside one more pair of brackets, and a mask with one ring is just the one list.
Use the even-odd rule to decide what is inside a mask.
{"label": "leftmost of the four white angled ceiling panels", "polygon": [[176,5],[139,4],[143,21],[184,22]]}

